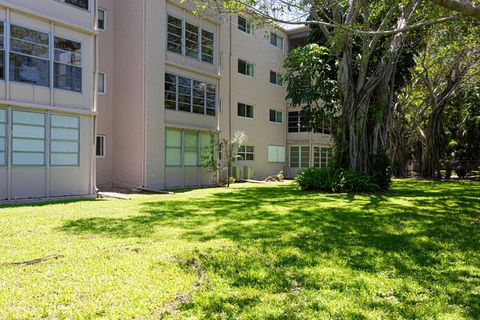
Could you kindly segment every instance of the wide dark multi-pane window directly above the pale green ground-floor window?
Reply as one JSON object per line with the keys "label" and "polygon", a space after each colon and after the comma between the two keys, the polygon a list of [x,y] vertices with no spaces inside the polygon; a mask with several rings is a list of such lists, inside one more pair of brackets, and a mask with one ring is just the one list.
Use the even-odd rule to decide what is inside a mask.
{"label": "wide dark multi-pane window directly above the pale green ground-floor window", "polygon": [[203,81],[165,74],[165,108],[216,115],[217,87]]}

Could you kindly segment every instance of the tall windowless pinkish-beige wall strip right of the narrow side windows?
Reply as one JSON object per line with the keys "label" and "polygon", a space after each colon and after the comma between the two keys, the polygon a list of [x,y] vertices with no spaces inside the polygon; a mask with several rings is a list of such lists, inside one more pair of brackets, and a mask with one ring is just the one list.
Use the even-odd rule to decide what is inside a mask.
{"label": "tall windowless pinkish-beige wall strip right of the narrow side windows", "polygon": [[114,0],[113,184],[118,186],[143,185],[144,3]]}

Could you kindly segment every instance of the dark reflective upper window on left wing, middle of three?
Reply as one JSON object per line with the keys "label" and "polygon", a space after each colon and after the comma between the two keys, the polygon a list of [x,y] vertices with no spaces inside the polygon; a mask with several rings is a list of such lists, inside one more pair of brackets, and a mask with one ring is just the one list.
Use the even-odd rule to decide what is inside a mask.
{"label": "dark reflective upper window on left wing, middle of three", "polygon": [[24,27],[10,27],[10,80],[49,87],[49,35]]}

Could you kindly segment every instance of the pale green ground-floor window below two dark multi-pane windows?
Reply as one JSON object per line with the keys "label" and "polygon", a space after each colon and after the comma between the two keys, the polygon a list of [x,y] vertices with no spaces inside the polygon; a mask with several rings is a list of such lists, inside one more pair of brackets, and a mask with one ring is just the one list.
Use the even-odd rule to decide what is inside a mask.
{"label": "pale green ground-floor window below two dark multi-pane windows", "polygon": [[[211,132],[186,129],[167,129],[165,134],[165,163],[172,167],[200,166],[202,157],[213,148]],[[211,153],[213,155],[213,153]]]}

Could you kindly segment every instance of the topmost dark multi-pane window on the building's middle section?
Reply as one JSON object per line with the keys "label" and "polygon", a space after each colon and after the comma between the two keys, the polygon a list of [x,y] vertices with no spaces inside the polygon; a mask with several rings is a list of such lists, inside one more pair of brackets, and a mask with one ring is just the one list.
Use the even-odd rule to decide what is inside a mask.
{"label": "topmost dark multi-pane window on the building's middle section", "polygon": [[168,51],[213,63],[215,47],[213,32],[173,16],[168,16],[167,24]]}

